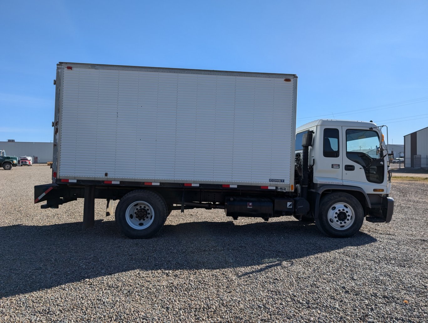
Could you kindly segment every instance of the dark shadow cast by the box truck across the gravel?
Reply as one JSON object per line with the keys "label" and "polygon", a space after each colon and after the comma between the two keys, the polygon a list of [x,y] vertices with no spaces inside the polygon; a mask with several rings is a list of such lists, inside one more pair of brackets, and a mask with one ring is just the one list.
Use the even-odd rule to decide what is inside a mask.
{"label": "dark shadow cast by the box truck across the gravel", "polygon": [[[238,222],[239,223],[239,222]],[[190,222],[165,225],[148,240],[123,236],[114,221],[0,227],[0,298],[130,270],[249,268],[255,275],[282,263],[377,241],[360,232],[327,238],[297,221]],[[241,270],[242,271],[242,270]]]}

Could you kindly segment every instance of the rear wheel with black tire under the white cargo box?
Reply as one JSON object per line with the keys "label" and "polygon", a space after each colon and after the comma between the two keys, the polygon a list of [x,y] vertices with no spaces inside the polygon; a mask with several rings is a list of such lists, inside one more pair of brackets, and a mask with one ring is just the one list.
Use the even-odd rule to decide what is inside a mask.
{"label": "rear wheel with black tire under the white cargo box", "polygon": [[151,238],[166,221],[168,208],[158,193],[134,190],[120,199],[116,206],[116,223],[129,238]]}

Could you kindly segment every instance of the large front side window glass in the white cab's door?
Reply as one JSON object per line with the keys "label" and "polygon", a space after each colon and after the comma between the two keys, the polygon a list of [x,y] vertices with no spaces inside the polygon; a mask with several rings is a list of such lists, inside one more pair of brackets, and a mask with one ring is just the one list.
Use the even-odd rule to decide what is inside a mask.
{"label": "large front side window glass in the white cab's door", "polygon": [[374,130],[346,130],[346,151],[363,152],[377,158],[376,148],[379,146],[379,135]]}

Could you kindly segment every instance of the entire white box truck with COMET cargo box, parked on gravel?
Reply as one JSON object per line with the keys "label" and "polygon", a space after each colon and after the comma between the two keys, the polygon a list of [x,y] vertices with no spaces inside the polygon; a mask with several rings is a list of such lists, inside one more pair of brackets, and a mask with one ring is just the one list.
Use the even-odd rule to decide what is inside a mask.
{"label": "entire white box truck with COMET cargo box, parked on gravel", "polygon": [[295,129],[297,76],[59,63],[52,183],[35,203],[114,200],[116,223],[149,238],[172,210],[294,216],[348,237],[364,218],[389,222],[388,157],[372,122],[317,120]]}

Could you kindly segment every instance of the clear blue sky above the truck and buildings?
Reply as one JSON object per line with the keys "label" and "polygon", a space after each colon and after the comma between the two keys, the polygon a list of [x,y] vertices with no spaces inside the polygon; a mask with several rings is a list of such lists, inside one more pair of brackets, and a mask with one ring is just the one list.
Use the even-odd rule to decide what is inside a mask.
{"label": "clear blue sky above the truck and buildings", "polygon": [[[428,126],[427,1],[2,1],[0,141],[53,137],[56,63],[299,76],[297,125]],[[407,120],[407,121],[406,121]]]}

